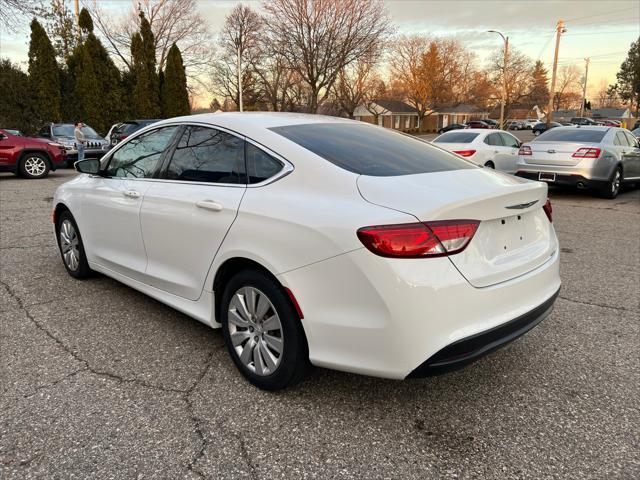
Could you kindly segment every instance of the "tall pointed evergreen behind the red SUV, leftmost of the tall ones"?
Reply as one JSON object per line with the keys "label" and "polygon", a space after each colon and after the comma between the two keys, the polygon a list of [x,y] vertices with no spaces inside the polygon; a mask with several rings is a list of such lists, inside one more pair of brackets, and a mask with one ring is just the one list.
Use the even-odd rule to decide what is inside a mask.
{"label": "tall pointed evergreen behind the red SUV, leftmost of the tall ones", "polygon": [[56,51],[42,25],[34,18],[29,42],[29,85],[40,122],[58,122],[60,78]]}

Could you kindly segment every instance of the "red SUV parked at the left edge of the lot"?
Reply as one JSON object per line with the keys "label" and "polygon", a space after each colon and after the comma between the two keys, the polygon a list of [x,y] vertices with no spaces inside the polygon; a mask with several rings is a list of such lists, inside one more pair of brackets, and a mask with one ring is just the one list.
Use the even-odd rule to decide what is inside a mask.
{"label": "red SUV parked at the left edge of the lot", "polygon": [[64,145],[42,138],[14,135],[0,128],[0,172],[26,178],[44,178],[67,162]]}

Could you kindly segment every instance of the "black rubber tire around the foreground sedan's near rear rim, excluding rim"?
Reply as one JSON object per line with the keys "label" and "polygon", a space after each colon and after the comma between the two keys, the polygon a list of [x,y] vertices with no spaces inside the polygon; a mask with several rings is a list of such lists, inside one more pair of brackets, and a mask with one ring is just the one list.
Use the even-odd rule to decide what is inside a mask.
{"label": "black rubber tire around the foreground sedan's near rear rim, excluding rim", "polygon": [[[242,287],[254,287],[264,293],[280,318],[284,348],[280,364],[271,375],[256,375],[246,368],[231,343],[228,322],[229,303],[232,296]],[[282,287],[274,279],[257,270],[244,270],[232,277],[222,294],[220,322],[224,341],[233,363],[253,385],[264,390],[280,390],[303,378],[308,368],[309,352],[302,323]]]}

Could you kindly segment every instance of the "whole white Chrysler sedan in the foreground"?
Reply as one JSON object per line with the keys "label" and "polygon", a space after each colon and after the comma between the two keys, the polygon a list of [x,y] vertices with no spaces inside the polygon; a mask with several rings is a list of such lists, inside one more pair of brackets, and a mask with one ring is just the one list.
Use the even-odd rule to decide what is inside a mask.
{"label": "whole white Chrysler sedan in the foreground", "polygon": [[212,327],[258,387],[311,365],[402,379],[537,325],[560,288],[547,186],[346,119],[174,118],[60,186],[65,268]]}

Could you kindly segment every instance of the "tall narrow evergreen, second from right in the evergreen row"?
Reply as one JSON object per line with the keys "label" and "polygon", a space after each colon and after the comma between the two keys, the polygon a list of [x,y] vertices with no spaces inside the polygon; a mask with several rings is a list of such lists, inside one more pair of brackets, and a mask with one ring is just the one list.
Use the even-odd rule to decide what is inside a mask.
{"label": "tall narrow evergreen, second from right in the evergreen row", "polygon": [[160,116],[159,78],[156,71],[155,40],[151,25],[140,12],[140,32],[131,38],[131,63],[135,76],[133,103],[139,118]]}

